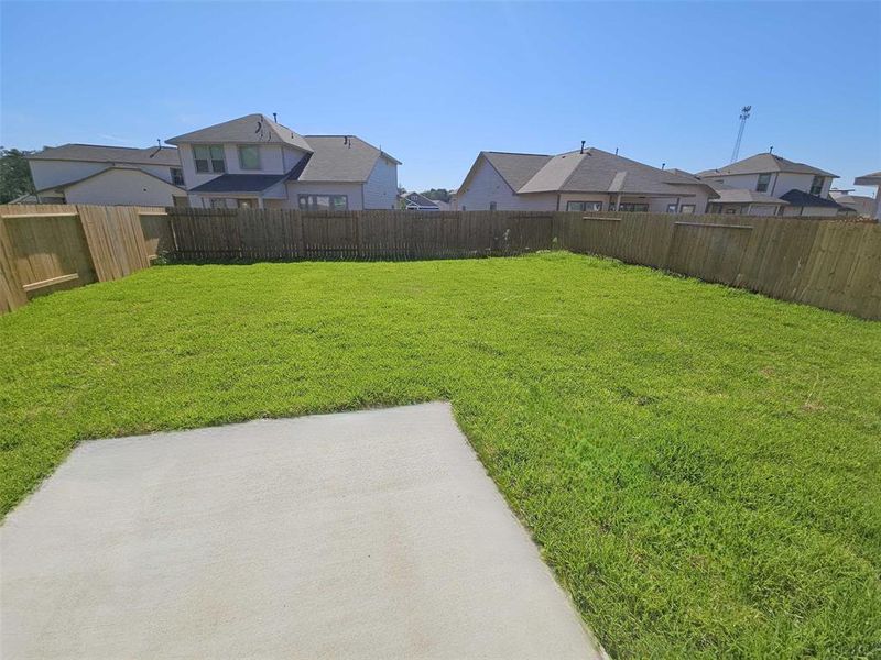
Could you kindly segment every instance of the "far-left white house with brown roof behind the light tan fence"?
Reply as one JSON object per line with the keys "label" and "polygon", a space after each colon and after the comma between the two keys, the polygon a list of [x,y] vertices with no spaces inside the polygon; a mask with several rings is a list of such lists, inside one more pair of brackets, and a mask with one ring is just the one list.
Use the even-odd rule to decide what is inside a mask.
{"label": "far-left white house with brown roof behind the light tan fence", "polygon": [[177,150],[64,144],[30,154],[35,193],[17,201],[174,206],[186,201]]}

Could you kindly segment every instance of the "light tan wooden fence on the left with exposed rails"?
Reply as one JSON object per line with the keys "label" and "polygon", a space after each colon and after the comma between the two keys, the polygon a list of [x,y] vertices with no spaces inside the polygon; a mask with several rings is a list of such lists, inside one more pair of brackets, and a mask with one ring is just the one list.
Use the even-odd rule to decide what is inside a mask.
{"label": "light tan wooden fence on the left with exposed rails", "polygon": [[[160,243],[151,230],[167,228],[164,213],[142,207],[0,206],[0,314],[35,296],[148,267],[155,254],[149,250]],[[160,220],[159,229],[151,219]]]}

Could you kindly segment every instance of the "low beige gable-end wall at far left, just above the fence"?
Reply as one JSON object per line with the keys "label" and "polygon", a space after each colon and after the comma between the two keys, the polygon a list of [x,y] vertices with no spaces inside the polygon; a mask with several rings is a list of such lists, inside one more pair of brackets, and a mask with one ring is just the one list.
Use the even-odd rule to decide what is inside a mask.
{"label": "low beige gable-end wall at far left, just above the fence", "polygon": [[175,196],[185,195],[139,169],[108,169],[65,189],[67,204],[172,206]]}

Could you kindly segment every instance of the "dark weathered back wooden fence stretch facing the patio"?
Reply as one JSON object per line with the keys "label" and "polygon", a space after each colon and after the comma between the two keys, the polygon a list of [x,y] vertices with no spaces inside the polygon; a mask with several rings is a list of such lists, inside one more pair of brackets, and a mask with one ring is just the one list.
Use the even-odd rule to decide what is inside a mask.
{"label": "dark weathered back wooden fence stretch facing the patio", "polygon": [[168,209],[175,261],[406,260],[550,250],[554,213]]}

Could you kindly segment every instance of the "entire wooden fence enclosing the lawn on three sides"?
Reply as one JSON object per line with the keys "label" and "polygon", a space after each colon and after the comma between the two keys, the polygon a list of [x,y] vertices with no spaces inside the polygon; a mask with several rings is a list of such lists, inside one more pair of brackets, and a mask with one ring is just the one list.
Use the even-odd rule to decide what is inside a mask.
{"label": "entire wooden fence enclosing the lawn on three sides", "polygon": [[744,216],[0,207],[0,314],[156,261],[509,256],[566,249],[881,319],[881,226]]}

